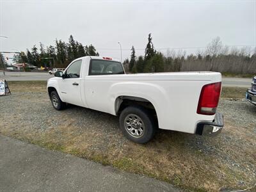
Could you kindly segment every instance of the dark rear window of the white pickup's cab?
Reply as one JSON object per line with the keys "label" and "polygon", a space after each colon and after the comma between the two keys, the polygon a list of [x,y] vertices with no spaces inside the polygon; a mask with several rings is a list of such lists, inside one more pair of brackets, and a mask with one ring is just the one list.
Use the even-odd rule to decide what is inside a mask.
{"label": "dark rear window of the white pickup's cab", "polygon": [[89,67],[90,76],[124,74],[124,68],[118,61],[91,60]]}

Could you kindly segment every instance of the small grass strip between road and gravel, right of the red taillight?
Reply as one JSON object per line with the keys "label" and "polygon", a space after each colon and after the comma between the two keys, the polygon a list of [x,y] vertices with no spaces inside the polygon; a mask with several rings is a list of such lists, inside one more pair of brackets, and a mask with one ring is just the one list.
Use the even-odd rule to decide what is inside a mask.
{"label": "small grass strip between road and gravel, right of the red taillight", "polygon": [[245,93],[247,89],[248,88],[223,86],[221,91],[221,97],[232,98],[232,99],[243,99],[245,97]]}

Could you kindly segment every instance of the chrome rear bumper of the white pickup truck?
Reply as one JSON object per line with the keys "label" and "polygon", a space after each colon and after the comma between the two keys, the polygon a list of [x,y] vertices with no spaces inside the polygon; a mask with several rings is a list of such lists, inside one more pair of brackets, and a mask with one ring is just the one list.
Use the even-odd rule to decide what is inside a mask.
{"label": "chrome rear bumper of the white pickup truck", "polygon": [[196,125],[196,134],[203,136],[216,136],[224,127],[223,115],[216,113],[213,122],[199,122]]}

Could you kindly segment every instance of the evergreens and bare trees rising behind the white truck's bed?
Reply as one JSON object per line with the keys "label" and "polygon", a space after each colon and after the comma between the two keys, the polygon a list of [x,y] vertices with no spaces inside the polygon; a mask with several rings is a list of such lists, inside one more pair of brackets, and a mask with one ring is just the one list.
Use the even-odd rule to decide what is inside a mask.
{"label": "evergreens and bare trees rising behind the white truck's bed", "polygon": [[225,74],[256,74],[256,48],[228,47],[222,44],[220,37],[210,42],[205,51],[189,54],[179,51],[167,50],[164,55],[157,52],[152,43],[151,34],[145,55],[136,57],[135,48],[131,48],[131,58],[124,61],[125,71],[131,73],[141,72],[179,72],[179,71],[216,71]]}

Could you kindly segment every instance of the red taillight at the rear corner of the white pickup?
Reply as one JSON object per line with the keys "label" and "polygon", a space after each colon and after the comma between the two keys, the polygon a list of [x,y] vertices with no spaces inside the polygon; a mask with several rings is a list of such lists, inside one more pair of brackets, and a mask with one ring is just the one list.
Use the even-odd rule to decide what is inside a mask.
{"label": "red taillight at the rear corner of the white pickup", "polygon": [[201,90],[196,113],[214,115],[220,99],[221,82],[205,84]]}

